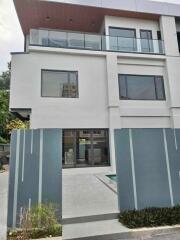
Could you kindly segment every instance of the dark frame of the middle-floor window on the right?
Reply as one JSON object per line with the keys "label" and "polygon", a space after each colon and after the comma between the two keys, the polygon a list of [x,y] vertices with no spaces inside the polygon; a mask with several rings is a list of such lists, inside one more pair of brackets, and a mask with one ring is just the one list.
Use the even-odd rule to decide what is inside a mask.
{"label": "dark frame of the middle-floor window on the right", "polygon": [[[154,77],[154,90],[155,90],[155,95],[156,99],[125,99],[121,97],[121,88],[120,88],[120,76],[125,77],[125,86],[126,86],[126,96],[128,97],[128,83],[127,83],[127,76],[136,76],[136,77]],[[163,99],[158,99],[158,94],[157,94],[157,86],[156,86],[156,78],[162,78],[163,81]],[[163,75],[140,75],[140,74],[118,74],[118,85],[119,85],[119,99],[120,100],[125,100],[125,101],[166,101],[166,91],[165,91],[165,84],[164,84],[164,76]]]}

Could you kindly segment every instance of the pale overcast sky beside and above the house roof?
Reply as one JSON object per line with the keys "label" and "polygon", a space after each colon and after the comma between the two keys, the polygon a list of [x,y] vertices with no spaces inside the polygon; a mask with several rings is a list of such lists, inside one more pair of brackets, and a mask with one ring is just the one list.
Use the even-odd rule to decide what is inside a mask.
{"label": "pale overcast sky beside and above the house roof", "polygon": [[[180,0],[155,0],[179,3]],[[7,69],[11,52],[23,51],[24,40],[13,0],[0,0],[0,74]]]}

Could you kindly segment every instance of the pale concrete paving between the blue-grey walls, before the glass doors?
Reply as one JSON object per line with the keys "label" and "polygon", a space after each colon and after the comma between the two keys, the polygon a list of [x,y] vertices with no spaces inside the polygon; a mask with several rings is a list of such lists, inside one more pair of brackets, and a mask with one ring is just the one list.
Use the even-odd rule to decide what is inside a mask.
{"label": "pale concrete paving between the blue-grey walls, before the glass doors", "polygon": [[118,213],[117,194],[96,177],[104,169],[94,171],[63,170],[63,218]]}

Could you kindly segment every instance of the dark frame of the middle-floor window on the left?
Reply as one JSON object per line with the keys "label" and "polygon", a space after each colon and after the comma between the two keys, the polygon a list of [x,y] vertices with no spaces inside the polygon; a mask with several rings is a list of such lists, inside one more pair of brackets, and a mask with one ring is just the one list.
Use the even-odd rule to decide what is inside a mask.
{"label": "dark frame of the middle-floor window on the left", "polygon": [[[43,71],[46,71],[46,72],[59,72],[59,73],[76,73],[76,76],[77,76],[77,94],[76,94],[76,97],[43,96]],[[69,81],[69,76],[68,76],[68,81]],[[41,97],[42,98],[60,98],[60,99],[76,99],[76,98],[79,98],[79,77],[78,77],[78,71],[76,71],[76,70],[70,71],[70,70],[56,70],[56,69],[41,69]]]}

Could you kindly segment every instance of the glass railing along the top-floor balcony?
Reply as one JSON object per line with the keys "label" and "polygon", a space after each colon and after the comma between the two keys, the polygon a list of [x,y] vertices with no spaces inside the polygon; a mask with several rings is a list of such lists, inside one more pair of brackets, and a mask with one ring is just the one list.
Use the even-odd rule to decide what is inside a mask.
{"label": "glass railing along the top-floor balcony", "polygon": [[165,54],[164,42],[162,40],[113,37],[42,29],[31,29],[30,45],[96,51]]}

